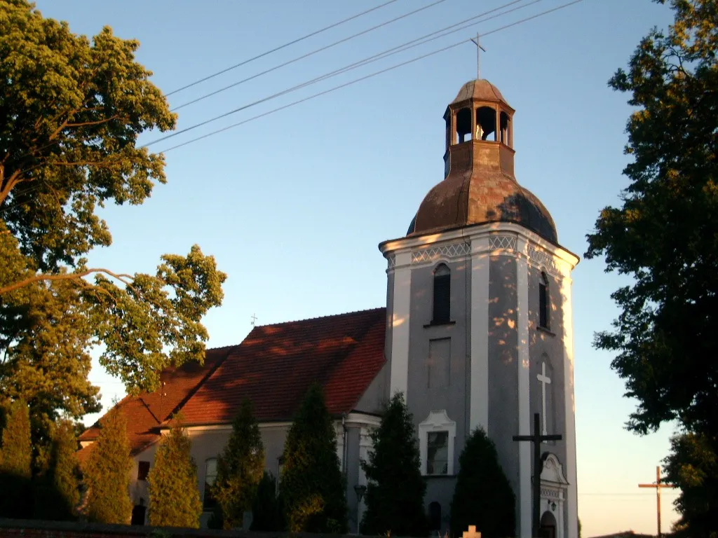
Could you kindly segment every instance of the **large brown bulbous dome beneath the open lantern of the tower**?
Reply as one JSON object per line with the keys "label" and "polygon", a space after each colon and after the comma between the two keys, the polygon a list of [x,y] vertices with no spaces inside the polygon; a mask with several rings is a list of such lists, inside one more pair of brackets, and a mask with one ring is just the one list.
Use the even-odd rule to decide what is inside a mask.
{"label": "large brown bulbous dome beneath the open lantern of the tower", "polygon": [[449,176],[426,194],[407,235],[444,232],[490,222],[514,222],[558,242],[549,210],[528,189],[500,171]]}

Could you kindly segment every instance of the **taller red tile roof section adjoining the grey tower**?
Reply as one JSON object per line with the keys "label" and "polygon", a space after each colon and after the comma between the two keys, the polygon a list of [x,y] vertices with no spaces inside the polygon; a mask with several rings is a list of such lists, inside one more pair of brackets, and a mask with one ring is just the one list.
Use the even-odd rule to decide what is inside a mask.
{"label": "taller red tile roof section adjoining the grey tower", "polygon": [[255,327],[182,407],[187,425],[229,423],[247,397],[261,422],[292,420],[312,382],[332,415],[383,366],[386,308]]}

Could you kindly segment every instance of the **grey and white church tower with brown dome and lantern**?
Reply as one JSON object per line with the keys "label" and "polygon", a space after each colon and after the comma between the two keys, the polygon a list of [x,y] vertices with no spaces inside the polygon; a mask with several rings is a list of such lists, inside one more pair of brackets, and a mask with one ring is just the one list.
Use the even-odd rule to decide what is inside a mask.
{"label": "grey and white church tower with brown dome and lantern", "polygon": [[[514,175],[515,110],[487,80],[462,86],[444,113],[444,179],[388,262],[388,392],[404,392],[419,438],[432,530],[448,528],[468,435],[485,430],[516,495],[516,532],[531,537],[529,443],[541,415],[541,525],[576,538],[571,271],[551,214]],[[391,395],[390,394],[390,395]]]}

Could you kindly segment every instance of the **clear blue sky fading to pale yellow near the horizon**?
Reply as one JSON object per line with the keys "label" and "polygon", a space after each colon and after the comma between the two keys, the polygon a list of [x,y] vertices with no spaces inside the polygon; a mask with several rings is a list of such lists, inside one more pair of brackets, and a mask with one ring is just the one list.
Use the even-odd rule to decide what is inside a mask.
{"label": "clear blue sky fading to pale yellow near the horizon", "polygon": [[[178,110],[187,128],[314,77],[507,4],[509,0],[396,0],[346,24],[285,47],[169,96],[172,106],[256,75],[409,11],[429,6],[335,47]],[[238,344],[258,324],[357,311],[386,304],[386,260],[379,242],[401,237],[421,199],[443,179],[448,103],[476,77],[476,48],[485,35],[481,75],[516,109],[516,177],[556,222],[561,245],[582,255],[602,207],[618,204],[630,114],[628,95],[607,80],[651,27],[671,11],[650,0],[583,0],[501,29],[569,0],[521,0],[510,14],[422,47],[253,105],[220,121],[151,145],[164,151],[256,115],[223,133],[167,151],[166,185],[139,207],[107,207],[111,247],[90,264],[121,273],[154,270],[163,253],[193,244],[228,273],[225,299],[205,324],[209,346]],[[165,93],[260,55],[383,0],[37,0],[45,16],[91,36],[104,25],[138,39],[137,60]],[[510,8],[507,8],[510,9]],[[274,108],[434,50],[423,60],[312,98]],[[142,143],[161,135],[146,133]],[[656,532],[653,490],[668,453],[671,425],[639,437],[624,423],[635,407],[610,369],[612,356],[592,347],[595,331],[617,315],[610,293],[628,280],[582,260],[573,273],[579,518],[583,536],[633,529]],[[103,403],[122,385],[99,365],[91,379]],[[88,416],[92,423],[95,416]],[[676,492],[664,490],[663,529],[677,515]]]}

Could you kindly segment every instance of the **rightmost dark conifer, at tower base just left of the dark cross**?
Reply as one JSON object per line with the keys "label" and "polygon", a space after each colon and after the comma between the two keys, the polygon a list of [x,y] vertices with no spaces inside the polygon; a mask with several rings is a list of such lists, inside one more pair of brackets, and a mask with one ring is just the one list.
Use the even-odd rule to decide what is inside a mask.
{"label": "rightmost dark conifer, at tower base just left of the dark cross", "polygon": [[452,534],[460,536],[476,525],[482,536],[513,536],[516,498],[498,463],[496,445],[482,428],[467,438],[459,467],[451,504]]}

